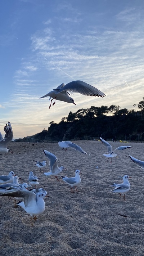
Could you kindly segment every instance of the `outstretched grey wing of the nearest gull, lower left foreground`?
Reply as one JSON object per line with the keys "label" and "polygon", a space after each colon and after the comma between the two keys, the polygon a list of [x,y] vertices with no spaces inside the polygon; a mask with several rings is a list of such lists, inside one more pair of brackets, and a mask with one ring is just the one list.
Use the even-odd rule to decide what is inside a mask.
{"label": "outstretched grey wing of the nearest gull, lower left foreground", "polygon": [[35,200],[36,194],[28,191],[28,190],[22,190],[22,189],[16,189],[11,192],[5,192],[1,194],[0,196],[10,196],[10,197],[22,197],[24,201],[24,205],[28,206],[28,203],[31,204],[32,200]]}

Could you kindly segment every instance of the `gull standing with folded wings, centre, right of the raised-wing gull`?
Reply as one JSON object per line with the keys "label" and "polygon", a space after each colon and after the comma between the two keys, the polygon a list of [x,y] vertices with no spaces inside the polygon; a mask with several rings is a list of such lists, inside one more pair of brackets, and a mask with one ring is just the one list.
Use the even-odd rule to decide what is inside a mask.
{"label": "gull standing with folded wings, centre, right of the raised-wing gull", "polygon": [[[75,188],[76,188],[76,186],[81,183],[80,174],[81,174],[80,170],[76,170],[76,171],[75,171],[75,177],[68,178],[67,176],[64,177],[64,176],[61,175],[63,181],[66,182],[68,185],[71,186],[71,193],[74,193],[74,192],[72,191],[72,187],[75,186]],[[77,188],[76,188],[76,191],[77,191]],[[77,191],[77,192],[78,192],[78,191]]]}

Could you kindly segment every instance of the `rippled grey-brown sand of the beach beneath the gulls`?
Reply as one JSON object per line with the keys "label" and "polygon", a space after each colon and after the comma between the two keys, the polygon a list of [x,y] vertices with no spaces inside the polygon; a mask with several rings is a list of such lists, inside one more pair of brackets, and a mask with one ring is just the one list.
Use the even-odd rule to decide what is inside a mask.
{"label": "rippled grey-brown sand of the beach beneath the gulls", "polygon": [[[8,148],[14,153],[0,155],[0,175],[14,171],[28,183],[29,172],[39,177],[38,188],[44,188],[45,211],[30,224],[30,215],[22,207],[14,208],[14,199],[0,197],[0,255],[1,256],[142,256],[144,255],[144,170],[129,158],[129,154],[144,161],[143,143],[109,142],[113,149],[121,145],[132,148],[117,151],[112,163],[103,156],[107,153],[99,141],[77,141],[85,152],[58,143],[17,143]],[[62,175],[75,176],[81,171],[79,192],[63,180],[45,176],[49,160],[43,150],[57,156],[66,167]],[[46,168],[35,166],[46,160]],[[98,169],[96,169],[98,166]],[[129,175],[131,189],[123,196],[109,192],[110,185],[122,183],[120,176]],[[35,186],[33,185],[33,188]],[[123,214],[123,217],[117,214]]]}

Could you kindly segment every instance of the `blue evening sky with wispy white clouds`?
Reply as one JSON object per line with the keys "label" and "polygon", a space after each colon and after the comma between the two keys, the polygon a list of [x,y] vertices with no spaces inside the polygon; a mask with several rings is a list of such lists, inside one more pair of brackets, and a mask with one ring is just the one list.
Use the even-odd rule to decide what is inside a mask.
{"label": "blue evening sky with wispy white clouds", "polygon": [[[0,131],[14,139],[47,130],[70,111],[134,109],[144,97],[143,0],[1,0]],[[74,104],[41,96],[74,80],[106,96],[74,93]]]}

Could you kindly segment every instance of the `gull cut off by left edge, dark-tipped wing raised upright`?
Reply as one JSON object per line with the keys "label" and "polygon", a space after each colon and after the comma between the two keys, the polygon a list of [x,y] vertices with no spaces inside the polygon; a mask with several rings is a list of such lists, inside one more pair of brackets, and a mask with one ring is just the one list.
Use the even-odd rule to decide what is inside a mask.
{"label": "gull cut off by left edge, dark-tipped wing raised upright", "polygon": [[13,130],[10,122],[4,126],[5,136],[3,138],[2,134],[0,133],[0,153],[8,153],[10,149],[8,149],[6,146],[11,140],[13,139]]}

